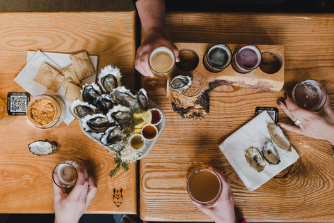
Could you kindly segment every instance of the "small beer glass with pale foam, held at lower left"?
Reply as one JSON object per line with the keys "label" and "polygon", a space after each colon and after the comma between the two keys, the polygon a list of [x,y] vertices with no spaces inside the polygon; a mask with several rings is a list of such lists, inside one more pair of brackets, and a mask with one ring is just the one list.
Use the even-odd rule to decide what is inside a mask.
{"label": "small beer glass with pale foam, held at lower left", "polygon": [[58,164],[52,171],[52,180],[63,189],[71,188],[77,183],[79,165],[76,160],[67,160]]}

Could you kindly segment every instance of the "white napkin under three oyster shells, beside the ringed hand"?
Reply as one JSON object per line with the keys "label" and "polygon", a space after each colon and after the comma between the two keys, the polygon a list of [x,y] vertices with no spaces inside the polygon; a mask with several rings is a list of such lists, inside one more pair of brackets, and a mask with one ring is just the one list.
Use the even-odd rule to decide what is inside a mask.
{"label": "white napkin under three oyster shells, beside the ringed hand", "polygon": [[261,112],[219,145],[234,171],[237,172],[239,178],[250,191],[256,190],[299,159],[299,155],[294,148],[291,152],[276,148],[280,156],[279,164],[270,165],[266,162],[266,167],[260,173],[250,167],[245,157],[246,150],[250,146],[254,146],[261,151],[264,143],[271,141],[267,129],[269,123],[273,123],[273,120],[267,111]]}

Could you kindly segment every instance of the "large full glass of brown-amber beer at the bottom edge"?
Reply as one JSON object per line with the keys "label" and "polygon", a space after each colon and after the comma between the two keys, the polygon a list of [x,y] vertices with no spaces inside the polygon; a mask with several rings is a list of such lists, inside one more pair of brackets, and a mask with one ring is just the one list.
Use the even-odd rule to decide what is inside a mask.
{"label": "large full glass of brown-amber beer at the bottom edge", "polygon": [[189,176],[186,190],[193,201],[210,206],[221,196],[221,178],[211,169],[197,169]]}

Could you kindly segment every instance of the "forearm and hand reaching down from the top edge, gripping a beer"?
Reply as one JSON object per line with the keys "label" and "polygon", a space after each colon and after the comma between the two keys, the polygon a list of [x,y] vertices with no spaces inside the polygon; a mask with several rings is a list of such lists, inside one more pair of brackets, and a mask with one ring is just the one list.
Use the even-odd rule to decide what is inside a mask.
{"label": "forearm and hand reaching down from the top edge, gripping a beer", "polygon": [[141,26],[145,32],[145,40],[137,49],[135,68],[144,76],[154,77],[148,59],[154,48],[165,46],[179,59],[179,51],[164,34],[165,2],[164,0],[138,0],[136,2]]}

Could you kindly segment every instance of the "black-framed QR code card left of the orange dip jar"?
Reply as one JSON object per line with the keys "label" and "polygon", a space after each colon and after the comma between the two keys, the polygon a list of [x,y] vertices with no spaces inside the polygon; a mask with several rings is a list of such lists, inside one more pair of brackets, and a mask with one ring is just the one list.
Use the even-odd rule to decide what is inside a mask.
{"label": "black-framed QR code card left of the orange dip jar", "polygon": [[10,116],[26,115],[26,105],[30,101],[28,92],[9,92],[7,95],[7,113]]}

